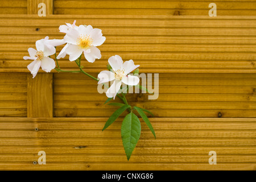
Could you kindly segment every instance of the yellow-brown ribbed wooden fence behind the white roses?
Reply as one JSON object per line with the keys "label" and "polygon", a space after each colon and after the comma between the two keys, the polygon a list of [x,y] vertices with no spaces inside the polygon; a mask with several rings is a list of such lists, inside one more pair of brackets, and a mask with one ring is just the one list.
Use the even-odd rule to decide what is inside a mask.
{"label": "yellow-brown ribbed wooden fence behind the white roses", "polygon": [[[39,17],[38,3],[47,5]],[[0,0],[0,169],[256,169],[256,1]],[[155,114],[156,139],[142,121],[129,162],[122,119],[101,131],[114,107],[97,82],[77,73],[32,79],[29,47],[63,38],[64,23],[101,28],[102,59],[82,60],[93,76],[108,58],[133,59],[143,73],[159,73],[159,98],[130,94],[129,103]],[[57,52],[62,47],[57,48]],[[75,69],[67,57],[60,67]],[[38,152],[46,152],[46,165]],[[210,165],[209,151],[217,164]]]}

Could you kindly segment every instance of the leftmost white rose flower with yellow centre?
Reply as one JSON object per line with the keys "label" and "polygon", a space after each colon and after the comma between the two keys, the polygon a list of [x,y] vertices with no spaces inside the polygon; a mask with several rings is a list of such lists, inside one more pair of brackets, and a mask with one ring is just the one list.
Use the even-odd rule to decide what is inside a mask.
{"label": "leftmost white rose flower with yellow centre", "polygon": [[60,46],[64,44],[64,40],[53,39],[49,40],[48,36],[46,38],[36,41],[36,49],[28,48],[28,53],[30,56],[24,56],[24,60],[34,60],[30,63],[27,68],[33,75],[33,78],[42,67],[43,71],[51,72],[55,68],[55,61],[48,56],[55,54],[55,46]]}

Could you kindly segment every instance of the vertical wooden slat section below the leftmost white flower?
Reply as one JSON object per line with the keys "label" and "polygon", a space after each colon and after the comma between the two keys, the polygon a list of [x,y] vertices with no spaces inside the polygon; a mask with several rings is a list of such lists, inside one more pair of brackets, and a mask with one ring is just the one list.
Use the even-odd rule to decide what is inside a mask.
{"label": "vertical wooden slat section below the leftmost white flower", "polygon": [[27,117],[53,117],[53,73],[38,73],[35,78],[27,76]]}

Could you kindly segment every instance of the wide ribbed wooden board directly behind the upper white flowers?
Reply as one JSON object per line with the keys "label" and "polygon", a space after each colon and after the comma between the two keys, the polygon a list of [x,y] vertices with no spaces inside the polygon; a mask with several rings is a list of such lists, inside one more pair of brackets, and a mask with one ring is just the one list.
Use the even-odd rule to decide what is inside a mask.
{"label": "wide ribbed wooden board directly behind the upper white flowers", "polygon": [[[142,72],[255,73],[256,70],[254,16],[213,19],[168,15],[47,15],[46,18],[0,15],[0,71],[28,72],[30,61],[22,59],[28,55],[27,49],[35,48],[35,41],[47,35],[62,39],[64,34],[58,27],[74,19],[77,24],[101,28],[106,36],[106,42],[99,47],[101,60],[91,64],[82,56],[82,65],[88,72],[105,69],[113,55],[120,55],[123,60],[133,59],[141,65]],[[57,53],[62,47],[57,48]],[[68,56],[60,60],[60,66],[77,69]]]}

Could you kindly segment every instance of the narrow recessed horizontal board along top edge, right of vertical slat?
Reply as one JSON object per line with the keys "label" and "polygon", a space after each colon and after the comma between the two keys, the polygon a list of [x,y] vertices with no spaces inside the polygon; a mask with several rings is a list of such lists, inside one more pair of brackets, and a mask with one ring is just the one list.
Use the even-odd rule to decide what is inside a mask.
{"label": "narrow recessed horizontal board along top edge, right of vertical slat", "polygon": [[[54,1],[54,14],[208,15],[210,1]],[[254,1],[214,1],[217,15],[256,15]]]}

